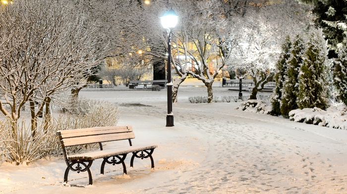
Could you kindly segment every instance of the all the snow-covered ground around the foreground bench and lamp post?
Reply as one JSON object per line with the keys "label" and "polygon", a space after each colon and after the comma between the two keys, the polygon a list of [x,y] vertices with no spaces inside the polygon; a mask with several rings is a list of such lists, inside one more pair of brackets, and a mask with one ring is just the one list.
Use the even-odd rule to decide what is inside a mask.
{"label": "all the snow-covered ground around the foreground bench and lamp post", "polygon": [[[0,193],[347,193],[347,131],[236,110],[240,102],[192,104],[188,97],[206,96],[206,88],[196,81],[183,84],[173,104],[174,127],[165,127],[166,89],[80,93],[118,104],[118,125],[133,126],[134,145],[158,144],[155,169],[146,159],[135,160],[130,168],[127,157],[127,175],[122,175],[121,166],[112,165],[100,175],[99,159],[92,166],[92,186],[86,186],[86,173],[73,172],[69,186],[63,186],[66,164],[61,159],[30,166],[3,164]],[[214,96],[237,95],[215,83]]]}

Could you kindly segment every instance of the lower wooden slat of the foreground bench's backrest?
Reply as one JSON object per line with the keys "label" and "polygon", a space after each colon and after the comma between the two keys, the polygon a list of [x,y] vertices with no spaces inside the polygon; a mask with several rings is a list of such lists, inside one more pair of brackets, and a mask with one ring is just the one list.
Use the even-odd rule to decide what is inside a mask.
{"label": "lower wooden slat of the foreground bench's backrest", "polygon": [[120,133],[120,134],[103,134],[96,136],[80,136],[74,138],[65,138],[60,140],[61,144],[64,146],[72,145],[83,145],[83,144],[94,144],[99,142],[110,142],[118,140],[134,139],[134,132]]}

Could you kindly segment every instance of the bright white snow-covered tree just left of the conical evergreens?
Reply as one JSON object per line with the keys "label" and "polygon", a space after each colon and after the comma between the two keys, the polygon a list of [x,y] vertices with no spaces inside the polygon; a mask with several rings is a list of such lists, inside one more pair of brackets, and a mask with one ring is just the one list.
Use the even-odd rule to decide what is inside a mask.
{"label": "bright white snow-covered tree just left of the conical evergreens", "polygon": [[[231,69],[246,72],[254,80],[250,99],[271,81],[281,44],[287,35],[303,32],[310,26],[305,6],[283,0],[261,8],[248,10],[239,26],[237,49],[232,50]],[[234,38],[234,37],[232,37]]]}

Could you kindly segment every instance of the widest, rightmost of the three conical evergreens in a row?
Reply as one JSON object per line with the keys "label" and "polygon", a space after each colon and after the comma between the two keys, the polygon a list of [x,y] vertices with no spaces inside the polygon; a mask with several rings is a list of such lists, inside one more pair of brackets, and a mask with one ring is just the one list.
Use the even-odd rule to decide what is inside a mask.
{"label": "widest, rightmost of the three conical evergreens in a row", "polygon": [[326,109],[330,96],[330,67],[327,43],[321,30],[310,34],[299,72],[298,108]]}

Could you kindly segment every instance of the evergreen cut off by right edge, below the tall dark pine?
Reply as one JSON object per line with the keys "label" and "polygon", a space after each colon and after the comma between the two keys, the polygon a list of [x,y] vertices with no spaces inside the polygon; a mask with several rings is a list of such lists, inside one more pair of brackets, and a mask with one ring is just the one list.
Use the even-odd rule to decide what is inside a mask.
{"label": "evergreen cut off by right edge, below the tall dark pine", "polygon": [[334,85],[341,100],[347,104],[347,39],[338,47],[339,59],[334,68]]}

